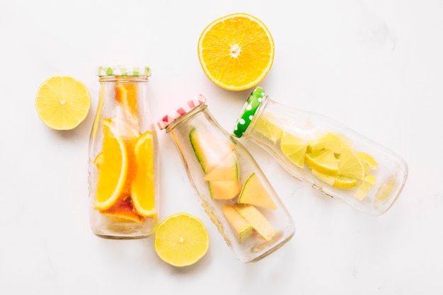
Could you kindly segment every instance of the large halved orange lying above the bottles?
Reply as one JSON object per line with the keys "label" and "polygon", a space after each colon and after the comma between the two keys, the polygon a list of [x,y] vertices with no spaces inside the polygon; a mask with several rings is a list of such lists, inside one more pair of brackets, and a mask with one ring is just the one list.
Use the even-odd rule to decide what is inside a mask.
{"label": "large halved orange lying above the bottles", "polygon": [[272,67],[274,51],[266,25],[247,13],[218,18],[198,40],[198,59],[206,76],[232,91],[260,83]]}

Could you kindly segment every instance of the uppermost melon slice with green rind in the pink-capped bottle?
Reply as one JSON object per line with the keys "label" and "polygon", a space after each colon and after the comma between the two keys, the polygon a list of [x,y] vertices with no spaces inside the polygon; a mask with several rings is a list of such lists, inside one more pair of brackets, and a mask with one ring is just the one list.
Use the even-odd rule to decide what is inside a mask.
{"label": "uppermost melon slice with green rind in the pink-capped bottle", "polygon": [[205,173],[209,173],[235,149],[234,144],[228,139],[223,140],[214,134],[200,132],[195,128],[189,132],[189,139]]}

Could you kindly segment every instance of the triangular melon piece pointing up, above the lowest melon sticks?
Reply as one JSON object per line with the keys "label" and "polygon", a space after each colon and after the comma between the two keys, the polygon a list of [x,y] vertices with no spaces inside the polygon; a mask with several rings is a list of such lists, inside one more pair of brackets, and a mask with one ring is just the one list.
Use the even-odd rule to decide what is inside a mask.
{"label": "triangular melon piece pointing up, above the lowest melon sticks", "polygon": [[252,173],[248,179],[246,179],[240,196],[238,196],[238,203],[251,204],[273,210],[277,209],[277,205],[255,173]]}

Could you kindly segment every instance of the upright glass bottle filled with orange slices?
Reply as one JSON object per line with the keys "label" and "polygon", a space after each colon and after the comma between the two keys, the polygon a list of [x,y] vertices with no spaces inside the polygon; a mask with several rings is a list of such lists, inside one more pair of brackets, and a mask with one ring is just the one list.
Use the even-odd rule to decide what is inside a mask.
{"label": "upright glass bottle filled with orange slices", "polygon": [[90,226],[103,238],[144,238],[158,224],[158,142],[146,66],[100,66],[89,140]]}

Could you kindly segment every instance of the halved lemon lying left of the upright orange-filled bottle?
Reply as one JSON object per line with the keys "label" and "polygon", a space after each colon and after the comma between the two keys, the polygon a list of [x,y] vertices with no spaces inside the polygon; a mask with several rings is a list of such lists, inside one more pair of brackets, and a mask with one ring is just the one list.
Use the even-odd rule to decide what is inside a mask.
{"label": "halved lemon lying left of the upright orange-filled bottle", "polygon": [[70,130],[86,119],[91,97],[81,81],[69,76],[52,76],[38,88],[35,108],[47,127]]}

